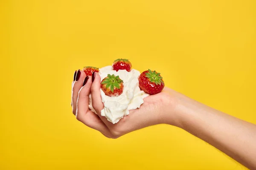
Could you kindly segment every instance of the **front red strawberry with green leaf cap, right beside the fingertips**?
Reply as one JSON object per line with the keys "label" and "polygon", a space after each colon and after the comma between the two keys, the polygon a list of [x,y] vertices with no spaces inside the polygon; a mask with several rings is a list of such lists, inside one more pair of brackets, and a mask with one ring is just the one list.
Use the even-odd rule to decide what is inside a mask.
{"label": "front red strawberry with green leaf cap, right beside the fingertips", "polygon": [[124,90],[123,81],[119,76],[114,74],[108,74],[108,77],[105,77],[101,82],[101,89],[107,96],[119,96]]}

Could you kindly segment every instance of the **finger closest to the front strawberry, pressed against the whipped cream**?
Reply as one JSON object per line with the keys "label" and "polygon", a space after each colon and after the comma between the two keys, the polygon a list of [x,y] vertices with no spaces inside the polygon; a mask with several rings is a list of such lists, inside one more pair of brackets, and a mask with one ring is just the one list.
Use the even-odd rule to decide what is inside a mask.
{"label": "finger closest to the front strawberry, pressed against the whipped cream", "polygon": [[100,95],[100,83],[101,79],[98,73],[95,73],[95,78],[91,86],[92,104],[95,111],[100,116],[101,110],[104,108],[102,98]]}

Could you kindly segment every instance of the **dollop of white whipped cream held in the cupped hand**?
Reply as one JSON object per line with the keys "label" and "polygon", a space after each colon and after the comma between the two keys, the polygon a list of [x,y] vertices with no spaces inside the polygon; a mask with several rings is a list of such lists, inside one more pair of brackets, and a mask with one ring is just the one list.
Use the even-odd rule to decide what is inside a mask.
{"label": "dollop of white whipped cream held in the cupped hand", "polygon": [[[140,108],[140,105],[143,104],[143,99],[146,96],[149,96],[149,94],[146,94],[144,91],[140,90],[138,80],[140,71],[135,69],[132,69],[130,72],[126,70],[115,71],[112,69],[112,66],[99,68],[101,81],[107,77],[108,74],[119,76],[119,78],[122,79],[124,83],[123,92],[119,96],[106,96],[102,89],[100,89],[102,102],[104,104],[101,115],[105,116],[108,121],[115,124],[119,122],[119,120],[124,116],[128,115],[129,110]],[[89,108],[91,111],[96,113],[92,106],[91,95],[89,95]]]}

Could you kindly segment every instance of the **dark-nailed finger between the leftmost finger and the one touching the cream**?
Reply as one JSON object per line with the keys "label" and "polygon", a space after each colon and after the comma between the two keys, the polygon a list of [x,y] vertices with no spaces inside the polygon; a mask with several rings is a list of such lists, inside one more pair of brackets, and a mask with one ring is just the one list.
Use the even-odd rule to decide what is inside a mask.
{"label": "dark-nailed finger between the leftmost finger and the one touching the cream", "polygon": [[102,122],[98,115],[89,110],[88,106],[91,84],[92,78],[86,77],[83,83],[84,86],[82,86],[78,94],[76,119],[88,127],[99,130],[101,133],[105,134],[105,136],[110,136],[111,133],[108,127]]}

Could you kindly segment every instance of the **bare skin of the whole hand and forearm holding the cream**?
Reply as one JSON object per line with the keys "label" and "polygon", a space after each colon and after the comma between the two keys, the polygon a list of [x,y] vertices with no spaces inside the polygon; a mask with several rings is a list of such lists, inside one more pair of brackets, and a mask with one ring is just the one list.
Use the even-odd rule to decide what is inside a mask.
{"label": "bare skin of the whole hand and forearm holding the cream", "polygon": [[[112,124],[100,115],[104,105],[100,96],[99,74],[96,73],[93,82],[89,77],[82,87],[85,77],[82,71],[79,80],[72,84],[73,114],[84,125],[104,136],[116,139],[151,125],[173,125],[208,142],[249,169],[256,170],[256,125],[210,108],[170,88],[146,97],[140,108],[129,111],[128,116]],[[98,115],[88,108],[90,93]]]}

